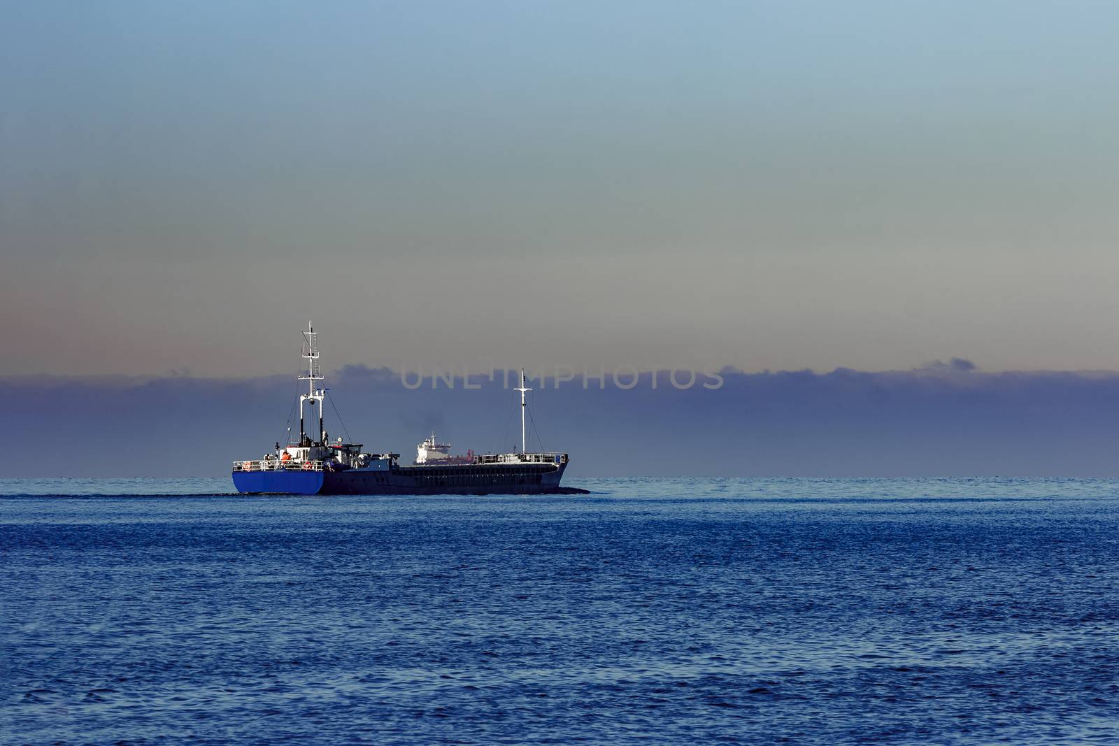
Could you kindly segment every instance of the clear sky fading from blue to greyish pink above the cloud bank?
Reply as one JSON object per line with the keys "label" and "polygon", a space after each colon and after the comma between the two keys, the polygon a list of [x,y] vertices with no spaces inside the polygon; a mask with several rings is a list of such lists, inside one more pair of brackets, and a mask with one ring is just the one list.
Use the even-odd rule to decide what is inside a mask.
{"label": "clear sky fading from blue to greyish pink above the cloud bank", "polygon": [[1115,2],[0,12],[0,375],[1119,369]]}

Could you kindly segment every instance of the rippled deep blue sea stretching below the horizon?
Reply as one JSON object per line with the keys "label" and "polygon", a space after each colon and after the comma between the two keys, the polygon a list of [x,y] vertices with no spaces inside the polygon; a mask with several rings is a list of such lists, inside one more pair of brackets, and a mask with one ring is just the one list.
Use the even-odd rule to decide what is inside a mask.
{"label": "rippled deep blue sea stretching below the horizon", "polygon": [[1119,743],[1119,481],[573,485],[0,480],[0,744]]}

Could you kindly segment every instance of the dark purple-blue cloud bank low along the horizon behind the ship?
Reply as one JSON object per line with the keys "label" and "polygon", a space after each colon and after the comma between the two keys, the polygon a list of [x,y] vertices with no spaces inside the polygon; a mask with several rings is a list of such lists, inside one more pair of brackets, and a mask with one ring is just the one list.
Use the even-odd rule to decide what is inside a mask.
{"label": "dark purple-blue cloud bank low along the horizon behind the ship", "polygon": [[[721,371],[678,389],[665,374],[633,388],[537,381],[530,446],[571,453],[571,475],[1116,475],[1119,375],[999,372],[967,360],[910,371]],[[501,375],[405,388],[387,368],[329,376],[331,435],[408,460],[431,428],[457,451],[520,436]],[[686,380],[686,377],[681,377]],[[704,380],[703,378],[699,379]],[[260,456],[286,428],[298,384],[185,375],[4,379],[16,434],[0,474],[215,475]]]}

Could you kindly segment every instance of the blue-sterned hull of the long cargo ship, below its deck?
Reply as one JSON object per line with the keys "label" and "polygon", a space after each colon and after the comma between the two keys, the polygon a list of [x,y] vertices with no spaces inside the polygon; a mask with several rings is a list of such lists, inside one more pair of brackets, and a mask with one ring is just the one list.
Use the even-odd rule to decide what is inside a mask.
{"label": "blue-sterned hull of the long cargo ship, below its deck", "polygon": [[256,494],[560,494],[562,464],[453,465],[344,471],[235,471],[238,492]]}

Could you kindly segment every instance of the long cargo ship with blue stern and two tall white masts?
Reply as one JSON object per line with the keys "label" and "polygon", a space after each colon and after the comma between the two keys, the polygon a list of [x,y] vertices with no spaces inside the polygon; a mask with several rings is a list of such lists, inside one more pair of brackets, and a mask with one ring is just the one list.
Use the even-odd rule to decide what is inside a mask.
{"label": "long cargo ship with blue stern and two tall white masts", "polygon": [[[319,368],[318,332],[302,332],[303,358],[308,361],[307,394],[299,397],[299,440],[261,460],[233,462],[233,483],[238,492],[257,494],[556,494],[585,493],[563,488],[566,453],[528,453],[525,445],[525,371],[520,371],[520,451],[452,457],[449,445],[420,444],[416,461],[399,463],[398,453],[367,453],[360,443],[330,442],[323,427],[322,404],[327,389]],[[318,406],[318,437],[305,432],[304,408]]]}

